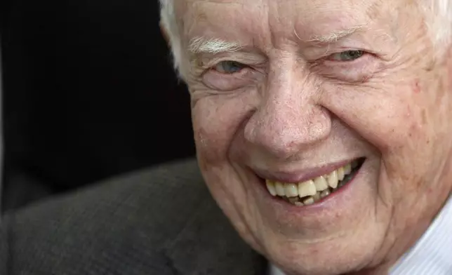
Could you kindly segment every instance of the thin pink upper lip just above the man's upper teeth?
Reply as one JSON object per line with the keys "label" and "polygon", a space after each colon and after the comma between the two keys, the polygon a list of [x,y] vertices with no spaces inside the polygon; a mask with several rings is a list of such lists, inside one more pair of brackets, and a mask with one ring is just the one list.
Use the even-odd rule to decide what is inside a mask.
{"label": "thin pink upper lip just above the man's upper teeth", "polygon": [[259,177],[265,180],[271,180],[273,182],[286,182],[286,183],[298,183],[305,182],[306,180],[312,180],[321,175],[328,175],[334,170],[352,163],[352,161],[357,159],[348,159],[346,161],[339,161],[336,163],[328,163],[324,166],[319,166],[317,168],[307,168],[302,170],[281,170],[281,169],[259,169],[253,168],[253,171]]}

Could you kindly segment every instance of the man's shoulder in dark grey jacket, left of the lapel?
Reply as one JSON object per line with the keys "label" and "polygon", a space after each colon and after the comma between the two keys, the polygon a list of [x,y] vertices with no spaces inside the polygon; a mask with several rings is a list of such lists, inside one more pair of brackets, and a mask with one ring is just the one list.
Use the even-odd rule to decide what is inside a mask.
{"label": "man's shoulder in dark grey jacket, left of the lapel", "polygon": [[0,241],[21,274],[157,272],[160,250],[206,201],[214,204],[196,161],[178,161],[8,213]]}

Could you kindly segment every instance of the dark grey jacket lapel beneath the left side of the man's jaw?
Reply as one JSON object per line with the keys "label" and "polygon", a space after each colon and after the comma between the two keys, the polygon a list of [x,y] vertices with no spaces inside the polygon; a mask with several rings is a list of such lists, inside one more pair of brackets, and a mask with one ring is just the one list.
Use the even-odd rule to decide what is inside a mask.
{"label": "dark grey jacket lapel beneath the left side of the man's jaw", "polygon": [[210,195],[166,246],[166,255],[181,275],[264,275],[267,269],[266,260],[240,239]]}

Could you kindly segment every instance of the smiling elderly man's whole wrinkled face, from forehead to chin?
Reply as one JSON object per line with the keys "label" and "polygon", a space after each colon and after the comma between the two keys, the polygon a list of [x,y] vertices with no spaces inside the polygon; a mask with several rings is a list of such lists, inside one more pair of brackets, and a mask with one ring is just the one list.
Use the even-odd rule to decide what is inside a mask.
{"label": "smiling elderly man's whole wrinkled face, from forehead to chin", "polygon": [[176,3],[200,167],[237,231],[288,274],[387,270],[451,193],[451,59],[416,1]]}

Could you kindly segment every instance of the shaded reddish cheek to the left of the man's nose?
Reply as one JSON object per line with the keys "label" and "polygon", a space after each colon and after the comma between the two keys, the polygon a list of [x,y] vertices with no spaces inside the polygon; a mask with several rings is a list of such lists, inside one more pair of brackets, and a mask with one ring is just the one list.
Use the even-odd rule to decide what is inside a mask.
{"label": "shaded reddish cheek to the left of the man's nose", "polygon": [[234,137],[249,113],[241,97],[213,95],[197,100],[192,107],[192,122],[197,154],[208,164],[227,159]]}

